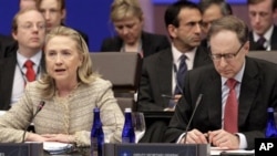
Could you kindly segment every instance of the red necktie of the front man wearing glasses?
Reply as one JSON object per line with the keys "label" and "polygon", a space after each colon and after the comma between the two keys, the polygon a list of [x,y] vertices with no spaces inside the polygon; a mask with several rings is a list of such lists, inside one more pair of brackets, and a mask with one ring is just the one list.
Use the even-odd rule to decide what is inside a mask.
{"label": "red necktie of the front man wearing glasses", "polygon": [[229,79],[227,86],[229,87],[229,95],[226,101],[224,110],[224,129],[229,133],[237,133],[237,116],[238,116],[238,102],[236,97],[236,84],[237,81]]}

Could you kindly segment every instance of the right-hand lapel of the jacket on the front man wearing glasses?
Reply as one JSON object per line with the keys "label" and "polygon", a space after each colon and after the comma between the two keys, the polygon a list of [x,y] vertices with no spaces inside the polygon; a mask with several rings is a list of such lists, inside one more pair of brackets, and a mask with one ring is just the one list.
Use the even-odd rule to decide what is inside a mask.
{"label": "right-hand lapel of the jacket on the front man wearing glasses", "polygon": [[253,101],[259,86],[258,70],[252,60],[246,59],[245,73],[243,76],[238,104],[238,125],[245,125]]}

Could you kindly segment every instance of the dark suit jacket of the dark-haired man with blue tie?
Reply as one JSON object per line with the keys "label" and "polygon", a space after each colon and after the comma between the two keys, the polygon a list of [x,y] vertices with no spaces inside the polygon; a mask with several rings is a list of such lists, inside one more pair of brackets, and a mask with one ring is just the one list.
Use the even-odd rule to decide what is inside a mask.
{"label": "dark suit jacket of the dark-haired man with blue tie", "polygon": [[[212,63],[208,53],[199,46],[195,54],[193,67]],[[143,61],[138,90],[138,111],[163,111],[170,100],[162,94],[172,95],[172,50],[166,49]]]}

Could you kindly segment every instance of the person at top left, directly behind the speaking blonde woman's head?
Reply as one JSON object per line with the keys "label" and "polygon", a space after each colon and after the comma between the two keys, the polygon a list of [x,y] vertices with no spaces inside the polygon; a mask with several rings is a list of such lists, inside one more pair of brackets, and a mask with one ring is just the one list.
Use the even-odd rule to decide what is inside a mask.
{"label": "person at top left, directly behind the speaking blonde woman's head", "polygon": [[[65,25],[65,0],[37,0],[37,7],[47,20],[47,32],[58,25]],[[80,30],[76,31],[82,35],[85,43],[89,45],[89,37]]]}

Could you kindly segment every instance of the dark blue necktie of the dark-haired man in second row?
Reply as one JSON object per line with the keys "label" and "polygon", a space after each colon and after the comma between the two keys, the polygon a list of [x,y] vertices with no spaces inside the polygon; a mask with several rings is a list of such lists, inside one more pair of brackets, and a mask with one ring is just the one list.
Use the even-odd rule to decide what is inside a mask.
{"label": "dark blue necktie of the dark-haired man in second row", "polygon": [[187,71],[186,55],[183,54],[182,56],[179,56],[179,65],[178,65],[178,71],[176,73],[175,94],[182,94],[183,93],[186,71]]}

